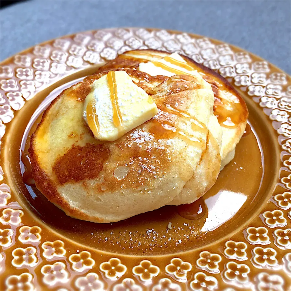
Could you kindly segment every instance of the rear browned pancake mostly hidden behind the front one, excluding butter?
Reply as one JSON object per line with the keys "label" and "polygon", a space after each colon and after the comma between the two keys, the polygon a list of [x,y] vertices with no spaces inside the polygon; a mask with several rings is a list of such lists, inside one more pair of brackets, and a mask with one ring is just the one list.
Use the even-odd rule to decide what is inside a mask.
{"label": "rear browned pancake mostly hidden behind the front one, excluding butter", "polygon": [[[97,72],[109,70],[114,68],[134,68],[139,69],[140,63],[157,61],[165,56],[170,55],[168,52],[161,52],[157,50],[132,50],[124,52],[116,59],[107,62],[99,68]],[[222,130],[222,144],[221,144],[221,170],[228,164],[235,155],[235,148],[241,139],[246,128],[248,109],[246,103],[239,95],[239,93],[218,73],[211,69],[195,62],[194,60],[180,55],[187,61],[193,69],[202,76],[212,86],[214,93],[214,115],[217,117]],[[214,121],[215,123],[215,121]],[[216,131],[212,131],[215,135]],[[216,134],[216,139],[219,140],[220,133]]]}

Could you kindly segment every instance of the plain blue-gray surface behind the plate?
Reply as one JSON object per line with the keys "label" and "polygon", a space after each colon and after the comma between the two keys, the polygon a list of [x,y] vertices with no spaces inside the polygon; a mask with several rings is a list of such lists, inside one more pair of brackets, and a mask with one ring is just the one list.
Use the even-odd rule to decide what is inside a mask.
{"label": "plain blue-gray surface behind the plate", "polygon": [[291,0],[31,0],[0,10],[0,60],[65,34],[126,26],[217,38],[291,74]]}

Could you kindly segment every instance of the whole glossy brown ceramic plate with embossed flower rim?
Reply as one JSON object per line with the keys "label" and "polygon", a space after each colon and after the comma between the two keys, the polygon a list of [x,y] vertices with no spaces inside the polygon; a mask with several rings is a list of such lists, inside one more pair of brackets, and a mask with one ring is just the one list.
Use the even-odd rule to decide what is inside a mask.
{"label": "whole glossy brown ceramic plate with embossed flower rim", "polygon": [[[249,109],[236,156],[197,220],[175,206],[121,222],[66,216],[29,184],[29,137],[65,88],[130,49],[218,71]],[[291,78],[242,49],[175,31],[118,28],[36,45],[0,66],[0,290],[288,290]],[[202,214],[203,214],[202,213]]]}

